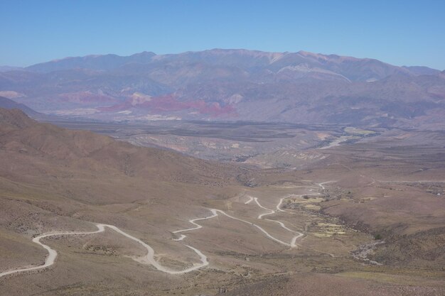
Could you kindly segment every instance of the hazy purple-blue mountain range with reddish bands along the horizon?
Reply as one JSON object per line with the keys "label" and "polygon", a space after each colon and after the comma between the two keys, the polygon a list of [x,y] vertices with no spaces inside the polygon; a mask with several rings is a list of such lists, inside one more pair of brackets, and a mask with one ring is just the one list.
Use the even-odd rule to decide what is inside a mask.
{"label": "hazy purple-blue mountain range with reddish bands along the horizon", "polygon": [[67,57],[0,72],[0,96],[105,121],[445,126],[445,72],[304,51]]}

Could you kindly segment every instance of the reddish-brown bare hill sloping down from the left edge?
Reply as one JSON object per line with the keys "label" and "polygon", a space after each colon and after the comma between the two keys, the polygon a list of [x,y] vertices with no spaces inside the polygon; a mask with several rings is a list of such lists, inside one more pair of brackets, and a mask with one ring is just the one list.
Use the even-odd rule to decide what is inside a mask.
{"label": "reddish-brown bare hill sloping down from the left edge", "polygon": [[[156,148],[140,148],[88,131],[39,124],[18,109],[0,110],[2,153],[11,154],[11,157],[4,159],[14,161],[16,167],[22,163],[23,167],[29,163],[38,165],[41,162],[31,160],[40,158],[46,160],[45,165],[53,164],[53,169],[57,170],[63,165],[91,172],[101,170],[122,177],[147,177],[154,181],[187,184],[216,182],[218,185],[234,182],[232,170],[241,172],[230,165],[205,162]],[[26,168],[23,168],[23,172],[26,172]]]}

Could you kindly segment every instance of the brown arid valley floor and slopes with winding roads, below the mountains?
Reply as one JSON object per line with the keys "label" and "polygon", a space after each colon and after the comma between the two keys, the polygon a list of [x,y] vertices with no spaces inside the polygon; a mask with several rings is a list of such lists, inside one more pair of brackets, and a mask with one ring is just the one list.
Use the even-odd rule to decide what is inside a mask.
{"label": "brown arid valley floor and slopes with winding roads, below the mountains", "polygon": [[58,124],[117,139],[0,109],[0,295],[445,293],[441,131]]}

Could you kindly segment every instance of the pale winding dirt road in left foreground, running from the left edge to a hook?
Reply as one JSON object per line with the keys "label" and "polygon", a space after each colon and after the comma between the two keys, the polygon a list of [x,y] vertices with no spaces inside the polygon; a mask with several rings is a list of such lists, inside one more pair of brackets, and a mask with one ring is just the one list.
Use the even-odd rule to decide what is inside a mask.
{"label": "pale winding dirt road in left foreground, running from the left edge to a hook", "polygon": [[191,248],[191,250],[195,251],[195,253],[198,254],[198,256],[200,257],[200,261],[201,263],[198,264],[194,264],[191,268],[186,268],[183,270],[172,270],[171,268],[166,268],[165,266],[161,265],[158,261],[156,261],[154,259],[154,249],[151,248],[151,246],[149,246],[147,243],[144,243],[144,241],[141,241],[140,239],[137,239],[136,237],[127,234],[127,232],[122,231],[121,229],[117,228],[117,226],[114,225],[108,225],[108,224],[95,224],[95,226],[97,226],[97,230],[96,231],[87,231],[87,232],[56,232],[56,233],[52,233],[52,234],[42,234],[41,236],[36,236],[33,239],[34,243],[37,243],[38,245],[42,246],[43,248],[45,248],[46,251],[48,251],[48,256],[46,256],[45,258],[45,263],[43,263],[43,265],[39,265],[39,266],[33,266],[30,268],[20,268],[20,269],[15,269],[15,270],[8,270],[8,271],[4,271],[3,273],[0,273],[0,278],[4,277],[6,275],[11,275],[14,273],[23,273],[26,271],[32,271],[32,270],[39,270],[39,269],[43,269],[43,268],[48,268],[49,266],[53,265],[55,263],[55,258],[57,258],[58,253],[57,251],[55,251],[53,248],[50,248],[50,246],[45,245],[45,243],[41,242],[41,239],[45,239],[51,236],[70,236],[70,235],[89,235],[89,234],[98,234],[100,232],[104,232],[105,231],[105,227],[112,229],[114,231],[116,231],[118,234],[122,234],[123,236],[127,237],[128,239],[131,239],[132,241],[136,241],[137,243],[141,244],[142,246],[144,246],[144,248],[146,248],[147,254],[146,256],[142,256],[139,258],[133,258],[134,261],[138,261],[139,263],[142,264],[146,264],[146,265],[153,265],[154,268],[156,268],[157,270],[163,271],[164,273],[168,273],[168,274],[183,274],[183,273],[189,273],[193,270],[197,270],[199,268],[202,268],[206,265],[208,265],[208,261],[207,261],[207,256],[205,256],[203,253],[201,253],[198,249],[193,248],[192,246],[188,246],[186,245],[186,247]]}

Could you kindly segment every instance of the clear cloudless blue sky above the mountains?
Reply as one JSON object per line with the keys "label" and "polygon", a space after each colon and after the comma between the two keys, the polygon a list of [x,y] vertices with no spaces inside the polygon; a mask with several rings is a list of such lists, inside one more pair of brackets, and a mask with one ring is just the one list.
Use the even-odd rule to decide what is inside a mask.
{"label": "clear cloudless blue sky above the mountains", "polygon": [[306,50],[445,69],[445,0],[0,0],[0,65],[211,48]]}

